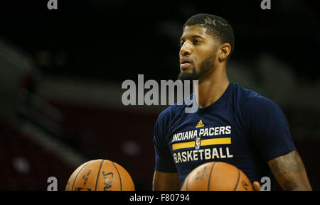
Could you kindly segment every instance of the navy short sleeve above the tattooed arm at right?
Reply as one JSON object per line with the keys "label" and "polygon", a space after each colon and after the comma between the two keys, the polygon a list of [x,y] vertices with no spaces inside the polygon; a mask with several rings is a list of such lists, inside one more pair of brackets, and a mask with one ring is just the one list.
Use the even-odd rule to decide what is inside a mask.
{"label": "navy short sleeve above the tattooed arm at right", "polygon": [[296,149],[289,122],[277,104],[257,96],[247,100],[244,106],[246,124],[249,125],[247,129],[265,160],[272,160]]}

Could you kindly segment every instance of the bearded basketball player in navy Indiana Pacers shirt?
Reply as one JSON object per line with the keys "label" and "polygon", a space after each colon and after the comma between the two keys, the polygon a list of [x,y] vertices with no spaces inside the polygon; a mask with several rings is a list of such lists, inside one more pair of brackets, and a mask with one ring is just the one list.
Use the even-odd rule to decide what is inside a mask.
{"label": "bearded basketball player in navy Indiana Pacers shirt", "polygon": [[279,106],[228,80],[233,48],[233,29],[223,18],[197,14],[183,25],[178,79],[198,80],[198,111],[175,104],[159,114],[154,190],[180,190],[194,168],[210,161],[235,165],[255,190],[262,177],[284,190],[311,190]]}

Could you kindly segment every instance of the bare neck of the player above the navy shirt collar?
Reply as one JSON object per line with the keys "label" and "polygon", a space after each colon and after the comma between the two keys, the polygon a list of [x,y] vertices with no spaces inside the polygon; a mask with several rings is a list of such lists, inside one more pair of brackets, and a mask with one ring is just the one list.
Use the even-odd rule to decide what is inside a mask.
{"label": "bare neck of the player above the navy shirt collar", "polygon": [[[225,67],[215,69],[205,79],[199,80],[198,84],[198,106],[204,108],[217,101],[223,95],[229,85],[229,79]],[[197,92],[197,87],[195,87]]]}

